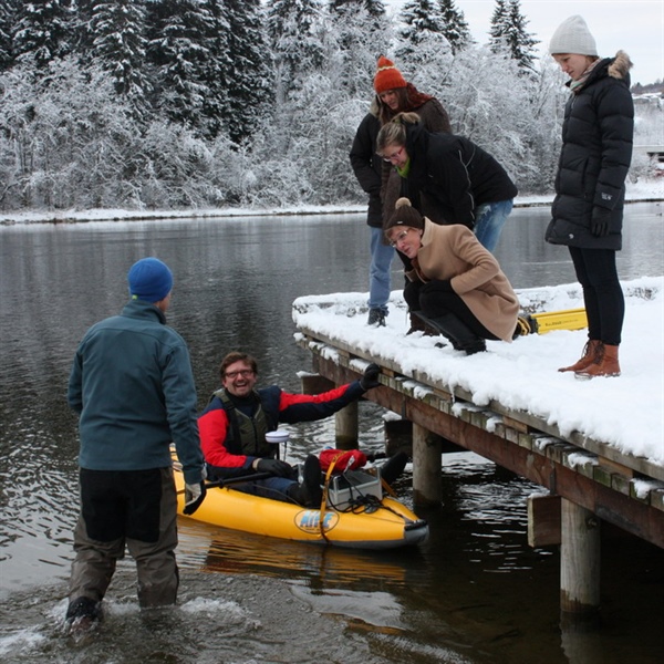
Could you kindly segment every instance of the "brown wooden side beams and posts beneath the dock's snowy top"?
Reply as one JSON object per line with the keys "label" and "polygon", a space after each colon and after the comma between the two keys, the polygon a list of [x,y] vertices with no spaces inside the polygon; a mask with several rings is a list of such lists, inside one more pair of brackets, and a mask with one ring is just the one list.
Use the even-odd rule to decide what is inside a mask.
{"label": "brown wooden side beams and posts beneath the dock's snowy top", "polygon": [[[314,372],[336,385],[356,380],[366,362],[382,366],[381,387],[366,398],[413,423],[415,505],[440,500],[440,438],[548,489],[529,498],[528,537],[533,547],[561,546],[563,613],[588,615],[600,604],[602,522],[664,549],[663,466],[578,432],[564,434],[497,401],[478,406],[458,385],[407,371],[343,339],[307,326],[299,326],[297,339],[311,353]],[[336,424],[339,439],[352,445],[356,409]]]}

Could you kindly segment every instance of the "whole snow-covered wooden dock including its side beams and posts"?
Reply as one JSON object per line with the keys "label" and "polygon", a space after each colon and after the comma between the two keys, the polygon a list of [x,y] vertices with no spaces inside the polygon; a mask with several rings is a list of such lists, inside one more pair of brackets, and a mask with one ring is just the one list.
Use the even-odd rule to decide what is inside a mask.
{"label": "whole snow-covered wooden dock including its side beams and posts", "polygon": [[[298,298],[292,312],[297,343],[324,378],[341,384],[369,362],[381,365],[381,387],[366,398],[413,423],[416,505],[440,498],[437,436],[544,489],[529,499],[529,543],[567,551],[561,564],[573,569],[561,573],[561,609],[575,612],[599,602],[600,528],[580,532],[579,523],[604,521],[664,548],[664,278],[623,288],[623,375],[595,381],[557,372],[582,349],[584,330],[489,342],[487,353],[468,357],[436,347],[439,339],[406,336],[398,292],[385,328],[366,325],[366,293]],[[577,286],[518,294],[525,308],[546,311],[579,307],[581,298]]]}

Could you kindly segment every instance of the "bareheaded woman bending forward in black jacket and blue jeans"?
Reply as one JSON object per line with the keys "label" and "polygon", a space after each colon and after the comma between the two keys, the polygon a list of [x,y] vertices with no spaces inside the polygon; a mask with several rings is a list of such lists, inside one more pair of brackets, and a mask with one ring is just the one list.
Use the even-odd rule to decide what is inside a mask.
{"label": "bareheaded woman bending forward in black jacket and blue jeans", "polygon": [[512,209],[517,187],[505,168],[464,136],[430,133],[414,113],[400,113],[376,139],[402,177],[401,195],[436,224],[463,224],[489,251]]}

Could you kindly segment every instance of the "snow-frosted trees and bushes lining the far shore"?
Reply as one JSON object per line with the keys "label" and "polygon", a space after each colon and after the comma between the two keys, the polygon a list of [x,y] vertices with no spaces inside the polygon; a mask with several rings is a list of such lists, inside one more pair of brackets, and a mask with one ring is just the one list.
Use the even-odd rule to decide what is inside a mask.
{"label": "snow-frosted trees and bushes lining the far shore", "polygon": [[[519,0],[485,44],[454,0],[0,0],[0,208],[362,203],[347,153],[381,54],[548,193],[568,93],[538,41]],[[661,107],[637,113],[654,142]]]}

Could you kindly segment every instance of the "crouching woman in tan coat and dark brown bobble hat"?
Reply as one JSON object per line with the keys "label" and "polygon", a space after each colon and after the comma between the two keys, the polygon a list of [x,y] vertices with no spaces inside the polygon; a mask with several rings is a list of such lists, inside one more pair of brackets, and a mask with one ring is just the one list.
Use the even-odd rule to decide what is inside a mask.
{"label": "crouching woman in tan coat and dark brown bobble hat", "polygon": [[486,339],[511,342],[519,301],[471,230],[438,226],[400,198],[385,235],[413,263],[404,289],[412,312],[467,355],[486,351]]}

